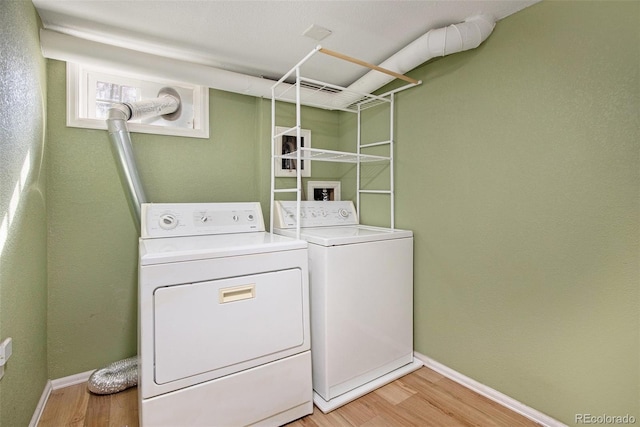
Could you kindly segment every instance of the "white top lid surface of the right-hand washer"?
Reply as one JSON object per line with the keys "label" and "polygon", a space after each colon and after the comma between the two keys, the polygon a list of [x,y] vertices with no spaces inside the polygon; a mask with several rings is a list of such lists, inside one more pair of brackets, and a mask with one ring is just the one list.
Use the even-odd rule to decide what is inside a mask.
{"label": "white top lid surface of the right-hand washer", "polygon": [[[294,229],[274,229],[275,233],[295,237]],[[398,230],[370,225],[338,227],[306,227],[300,229],[300,238],[321,246],[351,245],[355,243],[413,237],[411,230]]]}

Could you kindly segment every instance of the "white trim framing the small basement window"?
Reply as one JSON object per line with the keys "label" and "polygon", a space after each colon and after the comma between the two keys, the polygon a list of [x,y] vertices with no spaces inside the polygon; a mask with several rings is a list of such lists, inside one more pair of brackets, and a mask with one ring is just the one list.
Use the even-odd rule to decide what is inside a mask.
{"label": "white trim framing the small basement window", "polygon": [[[88,129],[107,129],[105,120],[87,117],[87,72],[99,72],[117,75],[112,71],[83,67],[67,62],[67,126]],[[157,135],[186,136],[192,138],[209,138],[209,88],[188,83],[161,81],[148,77],[121,75],[138,80],[160,83],[164,86],[180,86],[193,89],[193,129],[169,126],[154,126],[143,123],[127,123],[130,132],[150,133]]]}

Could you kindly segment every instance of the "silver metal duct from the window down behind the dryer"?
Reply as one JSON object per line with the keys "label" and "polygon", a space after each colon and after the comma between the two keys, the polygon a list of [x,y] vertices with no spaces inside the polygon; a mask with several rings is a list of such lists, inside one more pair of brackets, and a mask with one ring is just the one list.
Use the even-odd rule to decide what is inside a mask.
{"label": "silver metal duct from the window down behind the dryer", "polygon": [[175,89],[163,88],[158,95],[158,98],[145,101],[115,104],[109,109],[107,117],[111,151],[138,231],[141,205],[147,202],[147,196],[138,175],[127,121],[154,116],[163,116],[171,120],[180,115],[180,95]]}

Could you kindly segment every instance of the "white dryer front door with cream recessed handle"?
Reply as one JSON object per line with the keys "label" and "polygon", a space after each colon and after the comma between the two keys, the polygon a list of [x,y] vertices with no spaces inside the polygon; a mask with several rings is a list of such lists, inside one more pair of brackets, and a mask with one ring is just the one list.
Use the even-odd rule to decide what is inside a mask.
{"label": "white dryer front door with cream recessed handle", "polygon": [[221,376],[303,345],[302,283],[294,268],[156,289],[155,382]]}

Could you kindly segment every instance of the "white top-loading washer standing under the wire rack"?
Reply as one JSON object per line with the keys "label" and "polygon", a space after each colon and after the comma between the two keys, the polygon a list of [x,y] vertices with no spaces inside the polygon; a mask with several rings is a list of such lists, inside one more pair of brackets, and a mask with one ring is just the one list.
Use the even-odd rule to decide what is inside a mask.
{"label": "white top-loading washer standing under the wire rack", "polygon": [[[296,236],[296,202],[276,234]],[[303,201],[314,403],[329,412],[422,366],[413,358],[413,233],[360,225],[350,201]]]}

